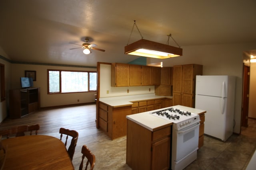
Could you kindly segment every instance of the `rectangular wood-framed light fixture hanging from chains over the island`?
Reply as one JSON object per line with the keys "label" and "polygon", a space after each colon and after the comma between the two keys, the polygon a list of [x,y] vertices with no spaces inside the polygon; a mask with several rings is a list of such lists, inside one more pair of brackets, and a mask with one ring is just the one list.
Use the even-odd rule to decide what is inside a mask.
{"label": "rectangular wood-framed light fixture hanging from chains over the island", "polygon": [[[134,25],[137,27],[136,21],[134,21],[132,31],[133,31]],[[132,35],[132,31],[131,31],[130,37]],[[138,29],[138,32],[140,33],[139,29]],[[178,47],[173,47],[169,45],[169,39],[170,37],[172,37],[171,34],[167,35],[168,36],[167,45],[143,39],[141,33],[140,33],[140,36],[141,36],[141,39],[139,41],[136,41],[128,45],[130,40],[130,37],[129,37],[128,43],[124,47],[125,54],[138,55],[142,57],[151,57],[156,59],[167,59],[171,57],[182,56],[182,48],[180,48],[178,43],[173,38],[172,38],[173,41],[178,45]]]}

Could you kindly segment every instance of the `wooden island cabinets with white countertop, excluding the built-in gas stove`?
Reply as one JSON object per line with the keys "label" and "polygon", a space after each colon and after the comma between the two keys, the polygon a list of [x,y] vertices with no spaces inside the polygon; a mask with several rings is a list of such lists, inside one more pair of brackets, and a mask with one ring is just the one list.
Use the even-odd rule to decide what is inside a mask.
{"label": "wooden island cabinets with white countertop, excluding the built-in gas stove", "polygon": [[[202,124],[206,111],[185,106],[179,107],[200,115]],[[149,114],[150,111],[127,115],[126,163],[134,170],[167,170],[170,168],[172,122]],[[200,125],[200,138],[203,129]],[[202,136],[200,136],[202,135]]]}

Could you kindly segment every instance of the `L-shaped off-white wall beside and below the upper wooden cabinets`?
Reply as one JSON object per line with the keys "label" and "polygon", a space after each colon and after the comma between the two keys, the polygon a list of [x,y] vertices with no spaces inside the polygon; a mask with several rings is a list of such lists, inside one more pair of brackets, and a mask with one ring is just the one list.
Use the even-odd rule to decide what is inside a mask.
{"label": "L-shaped off-white wall beside and below the upper wooden cabinets", "polygon": [[111,65],[100,64],[100,98],[154,93],[155,86],[111,87]]}

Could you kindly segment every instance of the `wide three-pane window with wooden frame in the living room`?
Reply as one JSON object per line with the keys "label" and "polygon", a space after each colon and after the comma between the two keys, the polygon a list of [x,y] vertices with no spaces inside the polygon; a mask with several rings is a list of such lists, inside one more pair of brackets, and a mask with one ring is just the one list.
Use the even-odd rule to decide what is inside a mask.
{"label": "wide three-pane window with wooden frame in the living room", "polygon": [[48,70],[48,93],[90,92],[96,90],[96,72]]}

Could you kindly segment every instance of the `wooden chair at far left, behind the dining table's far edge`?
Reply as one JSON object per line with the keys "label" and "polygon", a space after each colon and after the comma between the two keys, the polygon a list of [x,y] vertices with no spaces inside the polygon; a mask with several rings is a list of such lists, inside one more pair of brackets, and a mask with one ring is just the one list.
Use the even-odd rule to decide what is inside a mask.
{"label": "wooden chair at far left, behind the dining table's far edge", "polygon": [[15,137],[24,136],[25,132],[30,132],[30,135],[32,135],[32,132],[35,131],[35,134],[37,135],[39,129],[40,129],[40,126],[38,124],[22,125],[22,126],[12,127],[10,129],[0,130],[0,135],[6,136],[7,139],[12,136],[15,136]]}

